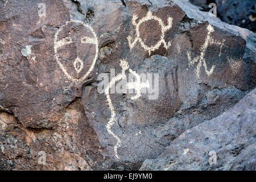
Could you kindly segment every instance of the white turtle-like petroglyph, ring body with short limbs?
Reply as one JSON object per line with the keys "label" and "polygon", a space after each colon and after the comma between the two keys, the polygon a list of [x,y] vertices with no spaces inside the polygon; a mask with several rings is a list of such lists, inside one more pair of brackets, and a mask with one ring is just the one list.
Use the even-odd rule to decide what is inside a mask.
{"label": "white turtle-like petroglyph, ring body with short limbs", "polygon": [[[151,10],[148,10],[147,15],[144,18],[140,19],[138,23],[136,23],[137,19],[138,19],[138,16],[136,14],[134,14],[133,15],[132,23],[136,27],[136,36],[137,36],[134,39],[134,42],[133,43],[131,42],[131,36],[127,36],[127,40],[128,40],[130,49],[132,49],[135,46],[135,44],[137,42],[139,42],[139,43],[141,43],[142,48],[144,48],[146,51],[148,51],[148,54],[150,55],[150,53],[152,51],[155,51],[156,49],[158,49],[162,44],[164,45],[164,48],[166,48],[166,49],[168,49],[171,46],[171,42],[166,43],[166,41],[164,40],[164,34],[166,33],[167,30],[170,30],[170,28],[172,27],[172,18],[171,17],[169,17],[167,19],[167,21],[168,21],[168,25],[167,26],[164,25],[162,19],[158,18],[157,16],[152,15]],[[159,42],[157,42],[155,44],[155,46],[151,46],[151,47],[148,47],[142,41],[142,39],[141,39],[141,37],[139,35],[139,26],[142,23],[147,22],[149,20],[155,20],[156,22],[159,23],[159,25],[161,27],[161,37],[160,37],[160,40],[159,40]]]}

